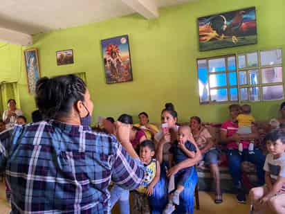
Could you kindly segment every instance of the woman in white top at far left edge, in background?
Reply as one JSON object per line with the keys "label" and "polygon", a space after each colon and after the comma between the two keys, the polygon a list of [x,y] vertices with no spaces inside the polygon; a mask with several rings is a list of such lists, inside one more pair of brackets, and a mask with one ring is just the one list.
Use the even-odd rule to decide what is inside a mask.
{"label": "woman in white top at far left edge, in background", "polygon": [[6,123],[6,128],[12,127],[16,122],[17,116],[23,115],[21,109],[17,109],[16,101],[14,99],[10,99],[7,102],[8,110],[3,112],[3,121]]}

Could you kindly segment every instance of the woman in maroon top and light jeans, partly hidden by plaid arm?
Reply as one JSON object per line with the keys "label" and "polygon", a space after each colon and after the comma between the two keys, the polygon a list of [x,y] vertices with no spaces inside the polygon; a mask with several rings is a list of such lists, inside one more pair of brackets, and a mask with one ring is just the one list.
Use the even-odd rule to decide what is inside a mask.
{"label": "woman in maroon top and light jeans, partly hidden by plaid arm", "polygon": [[[129,125],[133,124],[133,118],[128,114],[122,114],[119,116],[118,121]],[[131,141],[131,145],[133,145],[134,149],[136,150],[138,148],[138,145],[140,145],[140,143],[145,140],[145,132],[140,130],[138,127],[131,126],[129,141]],[[120,186],[115,185],[111,189],[111,208],[113,208],[118,200],[120,205],[120,213],[129,214],[129,190],[125,190]]]}

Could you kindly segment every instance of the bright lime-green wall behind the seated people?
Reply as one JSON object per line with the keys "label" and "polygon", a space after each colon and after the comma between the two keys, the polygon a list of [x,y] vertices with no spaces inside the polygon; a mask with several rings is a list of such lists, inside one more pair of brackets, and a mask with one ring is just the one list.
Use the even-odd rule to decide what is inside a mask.
{"label": "bright lime-green wall behind the seated people", "polygon": [[[258,44],[199,52],[197,17],[250,6],[257,9]],[[33,47],[39,50],[42,76],[86,72],[95,106],[94,121],[98,115],[117,118],[121,113],[136,116],[145,111],[151,121],[159,122],[164,103],[173,102],[179,121],[198,115],[203,121],[220,122],[228,117],[228,105],[199,105],[196,58],[275,47],[285,50],[283,12],[283,0],[200,0],[163,8],[159,19],[130,15],[35,35]],[[100,40],[125,34],[129,35],[134,81],[105,84]],[[7,66],[2,63],[6,61],[0,59],[0,71],[5,73],[5,78],[15,78],[16,74],[20,77],[22,109],[30,114],[35,105],[26,89],[23,64],[19,71],[21,48],[12,45],[9,48],[11,54],[4,57]],[[55,51],[69,48],[73,49],[74,64],[57,66]],[[285,53],[283,60],[285,62]],[[272,118],[277,116],[279,103],[255,102],[252,112],[259,120]]]}

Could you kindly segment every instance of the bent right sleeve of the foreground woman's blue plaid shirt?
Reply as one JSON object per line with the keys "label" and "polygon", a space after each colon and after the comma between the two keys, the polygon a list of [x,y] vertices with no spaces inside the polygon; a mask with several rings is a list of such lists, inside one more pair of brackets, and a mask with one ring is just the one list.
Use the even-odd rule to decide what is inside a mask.
{"label": "bent right sleeve of the foreground woman's blue plaid shirt", "polygon": [[145,167],[139,159],[129,156],[125,148],[118,143],[116,159],[113,164],[112,181],[127,190],[134,190],[140,186],[145,175]]}

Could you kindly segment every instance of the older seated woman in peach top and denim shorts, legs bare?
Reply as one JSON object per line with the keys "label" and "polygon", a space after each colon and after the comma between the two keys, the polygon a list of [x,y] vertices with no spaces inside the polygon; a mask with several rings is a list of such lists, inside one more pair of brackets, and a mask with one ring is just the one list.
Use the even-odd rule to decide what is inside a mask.
{"label": "older seated woman in peach top and denim shorts, legs bare", "polygon": [[219,161],[219,150],[214,145],[212,136],[207,128],[202,127],[201,118],[198,116],[192,116],[190,118],[190,127],[192,130],[193,137],[201,151],[203,161],[205,165],[210,167],[210,171],[214,177],[214,184],[216,186],[216,198],[214,202],[221,204],[223,202],[220,186],[220,172],[218,167]]}

